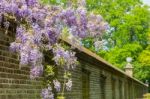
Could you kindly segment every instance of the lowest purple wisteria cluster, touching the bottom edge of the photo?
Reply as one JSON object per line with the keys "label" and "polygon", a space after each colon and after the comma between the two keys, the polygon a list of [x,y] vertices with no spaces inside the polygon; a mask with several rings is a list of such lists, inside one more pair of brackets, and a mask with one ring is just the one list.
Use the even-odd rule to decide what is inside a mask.
{"label": "lowest purple wisteria cluster, touching the bottom edge of the photo", "polygon": [[48,88],[42,89],[41,96],[42,99],[54,99],[54,94],[50,85],[48,85]]}

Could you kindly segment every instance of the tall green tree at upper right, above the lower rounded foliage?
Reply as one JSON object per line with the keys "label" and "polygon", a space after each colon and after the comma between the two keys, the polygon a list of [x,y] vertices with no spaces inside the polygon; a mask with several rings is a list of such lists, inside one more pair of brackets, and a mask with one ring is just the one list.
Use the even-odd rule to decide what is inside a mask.
{"label": "tall green tree at upper right, above the lower rounded foliage", "polygon": [[115,45],[140,42],[147,45],[150,12],[140,0],[87,0],[89,10],[101,14],[112,28],[111,39]]}

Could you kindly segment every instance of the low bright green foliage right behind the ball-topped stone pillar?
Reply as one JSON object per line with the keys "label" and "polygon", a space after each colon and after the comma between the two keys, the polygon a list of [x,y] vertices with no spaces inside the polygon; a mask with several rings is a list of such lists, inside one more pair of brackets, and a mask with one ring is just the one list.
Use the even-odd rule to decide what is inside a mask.
{"label": "low bright green foliage right behind the ball-topped stone pillar", "polygon": [[142,51],[142,46],[138,43],[126,44],[122,48],[115,47],[108,52],[100,52],[101,55],[104,53],[104,58],[110,63],[114,64],[119,68],[124,68],[126,65],[126,58],[132,57],[135,61],[138,54]]}

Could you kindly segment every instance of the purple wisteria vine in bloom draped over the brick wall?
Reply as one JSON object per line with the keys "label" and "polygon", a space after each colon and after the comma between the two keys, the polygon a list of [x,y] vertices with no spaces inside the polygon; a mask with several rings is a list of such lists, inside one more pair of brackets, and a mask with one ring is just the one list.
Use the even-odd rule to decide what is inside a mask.
{"label": "purple wisteria vine in bloom draped over the brick wall", "polygon": [[[63,8],[42,5],[39,0],[0,0],[0,22],[6,30],[9,29],[9,18],[17,23],[16,39],[10,44],[10,50],[19,54],[20,66],[31,67],[31,79],[43,74],[43,51],[52,50],[56,65],[63,67],[65,73],[76,67],[75,53],[58,44],[64,28],[77,39],[100,37],[108,29],[108,24],[100,15],[88,13],[82,6]],[[66,80],[64,86],[69,91],[72,80]],[[60,82],[56,79],[53,83],[59,92]],[[50,85],[42,90],[42,98],[54,98]]]}

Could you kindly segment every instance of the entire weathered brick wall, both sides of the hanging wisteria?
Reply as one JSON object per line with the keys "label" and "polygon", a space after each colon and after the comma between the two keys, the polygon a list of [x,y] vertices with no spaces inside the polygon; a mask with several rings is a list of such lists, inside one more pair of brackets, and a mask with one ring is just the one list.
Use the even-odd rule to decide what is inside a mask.
{"label": "entire weathered brick wall, both sides of the hanging wisteria", "polygon": [[[17,54],[9,51],[11,41],[13,38],[0,32],[0,99],[40,99],[42,78],[30,80],[29,67],[19,68]],[[83,69],[89,72],[88,99],[136,99],[147,91],[141,83],[84,52],[77,51],[77,57],[80,65],[73,71],[73,88],[66,92],[66,99],[83,99]],[[58,78],[61,81],[62,74],[60,70]]]}

